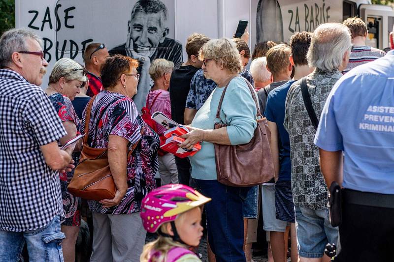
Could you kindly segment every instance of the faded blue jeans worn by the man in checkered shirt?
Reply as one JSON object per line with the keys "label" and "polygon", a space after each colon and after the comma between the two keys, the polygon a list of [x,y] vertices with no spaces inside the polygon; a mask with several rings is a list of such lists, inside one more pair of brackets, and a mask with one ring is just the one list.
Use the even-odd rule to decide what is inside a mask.
{"label": "faded blue jeans worn by the man in checkered shirt", "polygon": [[64,262],[60,216],[55,216],[48,225],[34,231],[0,231],[0,261],[18,262],[25,242],[28,246],[29,262]]}

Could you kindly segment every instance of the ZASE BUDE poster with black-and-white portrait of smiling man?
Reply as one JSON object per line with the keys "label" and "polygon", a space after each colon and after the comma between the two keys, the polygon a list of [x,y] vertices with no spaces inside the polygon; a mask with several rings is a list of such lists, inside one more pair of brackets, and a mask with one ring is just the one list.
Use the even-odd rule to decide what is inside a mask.
{"label": "ZASE BUDE poster with black-and-white portrait of smiling man", "polygon": [[49,62],[47,85],[55,61],[67,57],[83,63],[89,43],[104,43],[110,54],[139,61],[140,81],[134,102],[145,105],[152,86],[149,66],[156,58],[182,61],[182,44],[175,38],[175,0],[32,0],[16,1],[16,25],[36,31],[44,40]]}

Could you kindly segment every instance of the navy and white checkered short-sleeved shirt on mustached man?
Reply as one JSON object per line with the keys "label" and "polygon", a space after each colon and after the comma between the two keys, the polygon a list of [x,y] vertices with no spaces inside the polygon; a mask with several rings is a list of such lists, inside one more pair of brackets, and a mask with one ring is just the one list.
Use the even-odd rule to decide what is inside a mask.
{"label": "navy and white checkered short-sleeved shirt on mustached man", "polygon": [[1,69],[0,231],[37,230],[63,215],[59,172],[45,163],[40,146],[65,135],[44,91]]}

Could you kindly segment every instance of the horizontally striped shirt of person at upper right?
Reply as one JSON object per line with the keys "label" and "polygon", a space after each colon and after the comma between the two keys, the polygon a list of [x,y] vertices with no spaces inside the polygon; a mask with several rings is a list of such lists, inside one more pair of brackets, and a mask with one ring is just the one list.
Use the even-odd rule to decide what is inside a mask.
{"label": "horizontally striped shirt of person at upper right", "polygon": [[385,55],[386,53],[384,51],[377,48],[370,46],[355,46],[350,54],[347,68],[342,71],[342,74],[346,74],[350,69],[356,66],[384,57]]}

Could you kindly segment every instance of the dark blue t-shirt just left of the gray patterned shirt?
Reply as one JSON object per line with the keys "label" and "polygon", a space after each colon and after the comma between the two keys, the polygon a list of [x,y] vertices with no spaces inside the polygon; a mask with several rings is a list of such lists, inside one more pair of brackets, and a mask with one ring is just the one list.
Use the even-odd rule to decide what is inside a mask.
{"label": "dark blue t-shirt just left of the gray patterned shirt", "polygon": [[267,105],[265,107],[264,116],[268,121],[276,123],[279,134],[279,157],[280,168],[278,181],[292,180],[292,163],[290,160],[290,139],[289,133],[283,126],[285,120],[285,102],[287,92],[294,80],[288,81],[286,84],[276,87],[268,93]]}

